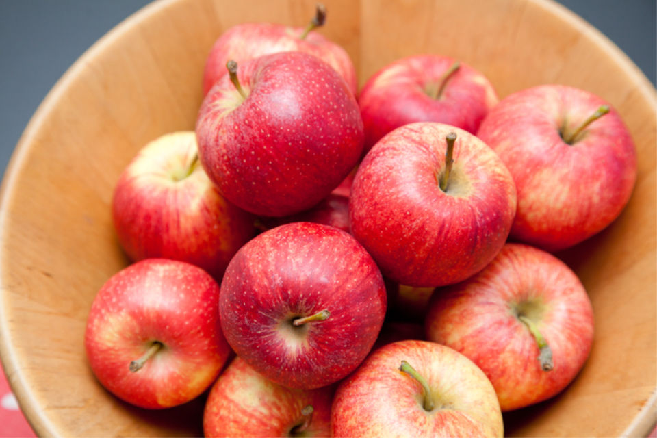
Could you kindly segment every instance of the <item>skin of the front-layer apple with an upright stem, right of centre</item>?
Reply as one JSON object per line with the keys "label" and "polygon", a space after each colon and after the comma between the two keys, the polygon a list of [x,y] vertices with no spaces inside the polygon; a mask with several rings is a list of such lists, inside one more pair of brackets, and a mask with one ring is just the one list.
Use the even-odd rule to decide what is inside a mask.
{"label": "skin of the front-layer apple with an upright stem, right of centre", "polygon": [[[446,141],[457,135],[447,192]],[[349,201],[351,232],[389,279],[412,287],[463,281],[506,241],[515,186],[500,158],[470,133],[441,123],[412,123],[365,156]]]}

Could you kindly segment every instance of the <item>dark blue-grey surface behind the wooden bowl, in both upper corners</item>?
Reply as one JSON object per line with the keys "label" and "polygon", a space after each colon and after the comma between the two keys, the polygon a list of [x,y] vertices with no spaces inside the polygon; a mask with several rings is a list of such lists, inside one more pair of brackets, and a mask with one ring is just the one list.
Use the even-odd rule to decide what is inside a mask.
{"label": "dark blue-grey surface behind the wooden bowl, in both upper corners", "polygon": [[[149,1],[0,0],[2,172],[29,118],[57,79],[103,34],[146,3]],[[613,40],[655,83],[655,0],[561,3]]]}

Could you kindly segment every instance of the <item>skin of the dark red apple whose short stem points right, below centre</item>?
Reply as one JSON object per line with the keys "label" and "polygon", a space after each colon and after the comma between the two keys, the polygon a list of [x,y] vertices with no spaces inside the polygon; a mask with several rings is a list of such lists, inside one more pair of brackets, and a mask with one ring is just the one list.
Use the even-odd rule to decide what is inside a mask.
{"label": "skin of the dark red apple whose short stem points right, below centre", "polygon": [[[292,326],[324,309],[328,319]],[[372,257],[348,233],[311,222],[255,237],[221,284],[222,328],[233,350],[291,388],[322,387],[352,372],[370,352],[385,309]]]}

